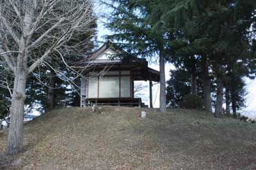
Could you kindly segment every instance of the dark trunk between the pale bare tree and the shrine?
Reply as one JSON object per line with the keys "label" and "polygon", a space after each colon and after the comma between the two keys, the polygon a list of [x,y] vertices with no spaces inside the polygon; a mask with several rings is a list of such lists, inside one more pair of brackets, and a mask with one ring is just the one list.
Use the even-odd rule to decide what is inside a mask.
{"label": "dark trunk between the pale bare tree and the shrine", "polygon": [[51,111],[55,107],[54,101],[54,89],[55,89],[55,79],[54,75],[51,74],[49,78],[49,87],[47,92],[47,111]]}

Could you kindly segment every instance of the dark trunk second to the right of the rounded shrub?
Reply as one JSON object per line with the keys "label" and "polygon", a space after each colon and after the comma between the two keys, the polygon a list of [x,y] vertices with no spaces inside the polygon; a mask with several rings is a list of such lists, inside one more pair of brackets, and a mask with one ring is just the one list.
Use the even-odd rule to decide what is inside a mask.
{"label": "dark trunk second to the right of the rounded shrub", "polygon": [[217,76],[217,100],[215,106],[215,118],[221,118],[221,110],[223,105],[223,82],[220,75]]}

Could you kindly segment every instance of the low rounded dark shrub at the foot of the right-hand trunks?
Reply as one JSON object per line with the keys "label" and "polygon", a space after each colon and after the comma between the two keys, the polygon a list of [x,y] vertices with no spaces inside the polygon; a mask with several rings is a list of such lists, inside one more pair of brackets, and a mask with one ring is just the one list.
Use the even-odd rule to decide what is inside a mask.
{"label": "low rounded dark shrub at the foot of the right-hand trunks", "polygon": [[200,96],[196,94],[188,94],[180,103],[180,108],[202,110],[204,103]]}

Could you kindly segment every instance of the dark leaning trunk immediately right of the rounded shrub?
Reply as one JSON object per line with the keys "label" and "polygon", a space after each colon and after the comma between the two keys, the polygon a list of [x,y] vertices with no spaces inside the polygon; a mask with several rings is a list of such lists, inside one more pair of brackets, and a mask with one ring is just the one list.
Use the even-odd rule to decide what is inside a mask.
{"label": "dark leaning trunk immediately right of the rounded shrub", "polygon": [[212,98],[211,98],[211,80],[209,77],[209,69],[207,60],[204,62],[203,66],[204,71],[204,108],[206,111],[209,111],[212,113]]}

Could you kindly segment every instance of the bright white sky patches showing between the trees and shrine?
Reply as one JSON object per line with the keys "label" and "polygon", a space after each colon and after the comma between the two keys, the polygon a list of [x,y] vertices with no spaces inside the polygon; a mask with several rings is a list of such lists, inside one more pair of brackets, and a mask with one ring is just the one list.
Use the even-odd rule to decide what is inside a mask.
{"label": "bright white sky patches showing between the trees and shrine", "polygon": [[[108,8],[104,8],[104,6],[96,4],[95,5],[95,11],[97,11],[98,15],[98,41],[105,41],[102,37],[108,34],[111,34],[111,32],[104,28],[104,22],[106,22],[104,20],[104,18],[100,17],[100,15],[102,15],[102,13],[104,13],[104,15],[108,15],[109,9]],[[157,71],[159,71],[159,66],[157,64],[150,64],[150,66],[152,69],[156,69]],[[165,66],[165,75],[166,75],[166,81],[170,79],[170,69],[174,69],[175,67],[172,66],[172,64],[166,64]],[[256,118],[256,80],[249,80],[248,78],[246,78],[246,82],[247,82],[247,91],[248,91],[248,95],[246,96],[246,108],[243,109],[243,113],[244,115],[247,115],[249,117],[253,117]],[[143,100],[143,102],[145,104],[149,105],[149,88],[148,88],[148,82],[146,81],[136,81],[135,85],[138,85],[142,83],[142,85],[147,85],[147,87],[143,90],[143,92],[141,92],[143,95],[140,96],[141,99]],[[158,108],[159,107],[159,84],[154,85],[153,86],[153,103],[154,103],[154,107]]]}

